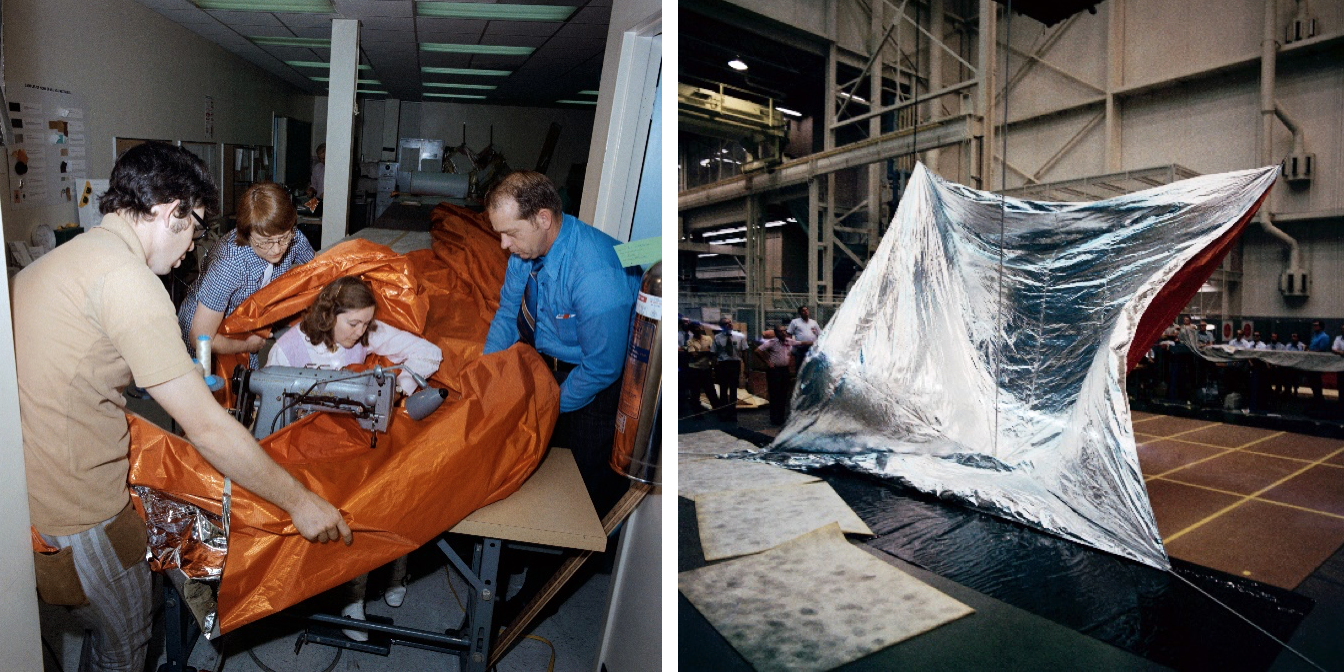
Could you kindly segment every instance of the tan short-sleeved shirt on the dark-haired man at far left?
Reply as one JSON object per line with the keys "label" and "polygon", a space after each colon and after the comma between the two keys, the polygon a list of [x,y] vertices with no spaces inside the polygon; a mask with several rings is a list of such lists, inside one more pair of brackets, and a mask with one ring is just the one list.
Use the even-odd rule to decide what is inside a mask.
{"label": "tan short-sleeved shirt on the dark-haired man at far left", "polygon": [[82,532],[129,499],[122,390],[195,370],[129,222],[106,215],[15,277],[13,340],[32,524]]}

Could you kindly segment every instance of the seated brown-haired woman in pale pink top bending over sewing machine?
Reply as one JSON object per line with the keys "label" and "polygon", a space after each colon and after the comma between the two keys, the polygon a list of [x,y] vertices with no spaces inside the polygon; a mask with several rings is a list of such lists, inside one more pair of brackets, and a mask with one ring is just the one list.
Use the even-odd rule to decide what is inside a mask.
{"label": "seated brown-haired woman in pale pink top bending over sewing machine", "polygon": [[[433,343],[374,317],[378,304],[374,290],[358,277],[329,282],[304,313],[298,328],[276,339],[266,366],[345,368],[363,364],[368,355],[382,355],[405,368],[396,375],[396,388],[411,394],[418,387],[410,371],[429,378],[438,371],[444,352]],[[410,370],[410,371],[407,371]],[[364,620],[364,593],[368,574],[347,583],[341,616]],[[388,606],[402,606],[406,598],[406,556],[392,562],[392,574],[383,591]],[[363,630],[343,630],[355,641],[367,641]]]}

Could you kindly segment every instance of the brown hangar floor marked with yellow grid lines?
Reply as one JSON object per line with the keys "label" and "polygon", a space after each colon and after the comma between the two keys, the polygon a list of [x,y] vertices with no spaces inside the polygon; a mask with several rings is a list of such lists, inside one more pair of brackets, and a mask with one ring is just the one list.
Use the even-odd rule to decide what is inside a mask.
{"label": "brown hangar floor marked with yellow grid lines", "polygon": [[[1293,590],[1314,606],[1288,642],[1344,669],[1344,439],[1134,413],[1140,466],[1173,558]],[[680,433],[774,437],[767,407],[683,418]],[[1289,652],[1274,671],[1314,669]]]}

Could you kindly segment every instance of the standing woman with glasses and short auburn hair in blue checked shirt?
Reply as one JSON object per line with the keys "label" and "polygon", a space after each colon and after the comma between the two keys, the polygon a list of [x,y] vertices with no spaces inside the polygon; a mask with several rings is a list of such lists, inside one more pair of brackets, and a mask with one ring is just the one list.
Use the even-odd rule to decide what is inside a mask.
{"label": "standing woman with glasses and short auburn hair in blue checked shirt", "polygon": [[177,310],[177,324],[192,351],[196,337],[206,335],[212,352],[251,352],[255,368],[255,353],[266,340],[257,335],[246,339],[222,336],[219,324],[258,289],[289,269],[313,261],[313,246],[302,235],[294,235],[298,212],[280,184],[253,184],[238,199],[237,211],[238,227],[210,249],[204,273]]}

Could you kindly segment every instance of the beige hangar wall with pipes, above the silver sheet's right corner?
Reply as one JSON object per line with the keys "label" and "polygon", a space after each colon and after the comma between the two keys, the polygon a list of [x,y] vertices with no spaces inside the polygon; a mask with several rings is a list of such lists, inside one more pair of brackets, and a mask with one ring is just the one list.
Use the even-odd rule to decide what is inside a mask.
{"label": "beige hangar wall with pipes, above the silver sheet's right corner", "polygon": [[[1058,43],[1011,89],[1009,118],[1042,114],[1063,106],[1097,101],[1106,86],[1106,26],[1110,12],[1098,7],[1095,15],[1081,12]],[[1312,3],[1318,34],[1344,34],[1344,5]],[[1297,3],[1278,1],[1275,36],[1282,48],[1284,27]],[[1142,86],[1234,62],[1245,65],[1214,77],[1187,78],[1138,95],[1118,98],[1121,169],[1180,164],[1200,173],[1259,167],[1259,54],[1263,38],[1265,0],[1126,0],[1124,7],[1124,77],[1121,87]],[[1000,35],[1007,31],[1000,20]],[[1012,43],[1031,51],[1051,34],[1042,24],[1015,15]],[[1000,59],[1003,58],[1000,51]],[[996,89],[1019,73],[1021,56],[1011,58],[1007,75]],[[1086,83],[1055,71],[1066,70]],[[1003,73],[1000,70],[1000,73]],[[1094,87],[1089,86],[1093,85]],[[1309,188],[1296,188],[1279,180],[1266,208],[1277,216],[1313,215],[1310,222],[1288,222],[1279,227],[1297,238],[1302,262],[1313,278],[1306,300],[1286,301],[1278,292],[1285,269],[1285,247],[1253,224],[1242,239],[1242,282],[1235,294],[1239,312],[1269,317],[1339,320],[1344,317],[1344,296],[1333,292],[1333,278],[1344,274],[1344,69],[1337,46],[1316,54],[1281,50],[1275,75],[1275,101],[1301,125],[1306,151],[1316,155],[1316,177]],[[1074,109],[1013,125],[1008,133],[1008,161],[1035,172],[1050,160],[1102,105]],[[1001,114],[1001,109],[999,110]],[[1292,148],[1292,134],[1278,121],[1273,124],[1274,159]],[[1001,151],[1003,137],[995,151]],[[997,163],[997,160],[996,160]],[[1000,177],[996,165],[995,185]],[[1066,180],[1111,172],[1106,169],[1105,125],[1098,124],[1062,155],[1058,164],[1040,175],[1042,181]],[[1024,179],[1008,171],[1009,187]],[[1235,309],[1235,308],[1234,308]]]}

